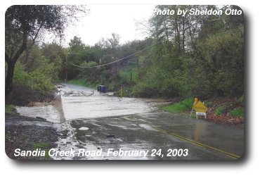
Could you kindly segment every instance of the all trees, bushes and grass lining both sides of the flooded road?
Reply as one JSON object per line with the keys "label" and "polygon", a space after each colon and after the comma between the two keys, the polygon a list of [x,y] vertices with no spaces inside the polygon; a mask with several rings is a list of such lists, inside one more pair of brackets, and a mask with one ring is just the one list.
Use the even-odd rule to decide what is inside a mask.
{"label": "all trees, bushes and grass lining both sides of the flooded road", "polygon": [[[39,8],[46,11],[39,11]],[[71,20],[62,12],[71,13],[70,17],[73,18],[79,8],[8,8],[7,104],[17,105],[25,99],[27,101],[20,104],[26,104],[32,99],[43,101],[46,94],[55,88],[56,80],[67,79],[71,84],[95,89],[104,84],[107,91],[115,92],[117,96],[122,94],[129,97],[162,99],[181,97],[182,101],[162,107],[164,111],[189,111],[193,104],[191,97],[198,96],[207,100],[205,103],[214,115],[240,118],[244,116],[243,15],[223,13],[220,16],[186,15],[181,18],[179,15],[153,14],[148,21],[139,24],[146,27],[144,32],[148,33],[148,37],[124,44],[120,43],[120,36],[116,33],[112,33],[108,38],[100,38],[93,46],[84,44],[81,37],[77,36],[70,40],[67,47],[56,42],[40,42],[37,31],[44,34],[46,30],[50,30],[60,36],[67,25],[66,21]],[[156,8],[176,11],[178,8],[185,10],[219,7]],[[13,13],[14,11],[18,13]],[[39,19],[44,22],[44,25],[40,26],[42,28],[37,28]],[[15,20],[19,25],[13,23]],[[57,23],[60,26],[57,26]],[[18,48],[14,49],[13,46]],[[223,102],[219,99],[223,99]]]}

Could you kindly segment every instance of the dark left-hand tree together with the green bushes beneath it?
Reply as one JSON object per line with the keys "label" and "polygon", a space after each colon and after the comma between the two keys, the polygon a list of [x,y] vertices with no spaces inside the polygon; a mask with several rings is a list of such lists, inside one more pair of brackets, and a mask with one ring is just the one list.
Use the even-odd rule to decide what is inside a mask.
{"label": "dark left-hand tree together with the green bushes beneath it", "polygon": [[10,6],[5,18],[6,104],[43,101],[63,69],[65,49],[42,42],[46,33],[62,39],[67,23],[84,6]]}

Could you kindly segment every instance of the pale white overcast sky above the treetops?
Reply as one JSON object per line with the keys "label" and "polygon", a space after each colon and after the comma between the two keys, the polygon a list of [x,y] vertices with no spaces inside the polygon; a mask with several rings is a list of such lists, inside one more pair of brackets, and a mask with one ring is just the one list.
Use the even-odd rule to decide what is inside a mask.
{"label": "pale white overcast sky above the treetops", "polygon": [[65,46],[74,36],[81,37],[84,44],[94,45],[102,37],[119,34],[120,44],[145,35],[136,30],[136,20],[148,20],[155,6],[148,5],[88,5],[89,13],[79,23],[70,25],[65,32]]}

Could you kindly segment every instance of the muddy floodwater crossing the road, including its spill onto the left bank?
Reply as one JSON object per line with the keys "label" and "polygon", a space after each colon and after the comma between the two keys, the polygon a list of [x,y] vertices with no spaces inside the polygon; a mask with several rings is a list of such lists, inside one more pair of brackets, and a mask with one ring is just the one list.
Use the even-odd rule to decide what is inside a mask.
{"label": "muddy floodwater crossing the road, including its spill onto the left bank", "polygon": [[121,99],[110,95],[86,87],[63,84],[61,92],[56,95],[55,103],[18,106],[16,110],[21,115],[32,118],[40,117],[51,122],[65,122],[65,120],[148,113],[156,109],[141,99]]}

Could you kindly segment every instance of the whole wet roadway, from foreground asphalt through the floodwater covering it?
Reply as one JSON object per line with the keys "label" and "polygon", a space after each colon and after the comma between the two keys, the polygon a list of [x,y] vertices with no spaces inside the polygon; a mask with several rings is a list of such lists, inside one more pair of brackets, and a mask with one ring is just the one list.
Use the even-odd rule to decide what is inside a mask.
{"label": "whole wet roadway, from foreground asphalt through the floodwater covering it", "polygon": [[70,84],[63,84],[60,95],[62,103],[53,111],[48,106],[30,111],[62,111],[49,113],[47,120],[65,121],[58,125],[67,135],[60,137],[57,150],[73,149],[75,155],[54,159],[233,160],[244,151],[241,127],[160,112],[143,99],[119,99]]}

